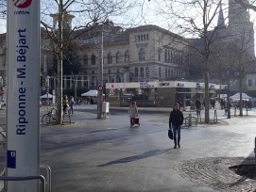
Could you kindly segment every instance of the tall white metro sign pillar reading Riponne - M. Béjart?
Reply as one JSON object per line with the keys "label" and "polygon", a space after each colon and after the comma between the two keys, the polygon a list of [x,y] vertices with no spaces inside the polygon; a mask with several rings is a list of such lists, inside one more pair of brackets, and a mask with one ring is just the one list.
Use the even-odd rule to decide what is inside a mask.
{"label": "tall white metro sign pillar reading Riponne - M. B\u00e9jart", "polygon": [[[7,176],[39,175],[40,1],[8,1]],[[38,191],[38,181],[9,181],[7,191]]]}

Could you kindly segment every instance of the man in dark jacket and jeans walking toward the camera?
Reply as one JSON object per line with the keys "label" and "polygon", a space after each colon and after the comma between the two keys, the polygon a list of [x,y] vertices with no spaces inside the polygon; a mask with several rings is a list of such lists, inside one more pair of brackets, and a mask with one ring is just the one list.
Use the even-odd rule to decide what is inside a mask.
{"label": "man in dark jacket and jeans walking toward the camera", "polygon": [[[180,141],[180,127],[183,124],[183,113],[179,111],[179,104],[175,104],[173,110],[170,113],[169,118],[169,127],[173,128],[173,135],[174,135],[174,149],[180,148],[179,141]],[[177,135],[178,135],[178,143],[177,143]]]}

